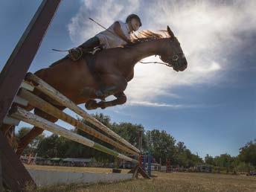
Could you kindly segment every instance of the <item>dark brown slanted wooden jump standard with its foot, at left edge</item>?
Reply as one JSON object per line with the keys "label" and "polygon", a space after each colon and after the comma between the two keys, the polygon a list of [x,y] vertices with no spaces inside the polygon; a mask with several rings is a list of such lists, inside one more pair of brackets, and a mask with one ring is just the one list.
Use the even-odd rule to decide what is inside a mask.
{"label": "dark brown slanted wooden jump standard with its foot, at left edge", "polygon": [[[43,0],[28,28],[19,39],[13,53],[0,74],[0,127],[13,102],[19,86],[36,55],[48,25],[61,0]],[[27,182],[33,182],[24,165],[19,161],[13,149],[7,144],[0,130],[0,150],[2,180],[11,191],[22,191]]]}

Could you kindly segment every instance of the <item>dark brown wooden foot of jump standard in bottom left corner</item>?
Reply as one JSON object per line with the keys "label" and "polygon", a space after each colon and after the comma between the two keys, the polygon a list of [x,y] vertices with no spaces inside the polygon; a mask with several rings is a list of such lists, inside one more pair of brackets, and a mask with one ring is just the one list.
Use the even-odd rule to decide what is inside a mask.
{"label": "dark brown wooden foot of jump standard in bottom left corner", "polygon": [[28,183],[35,185],[31,175],[25,169],[18,156],[4,138],[0,131],[0,149],[1,149],[1,170],[2,179],[7,188],[11,191],[22,191]]}

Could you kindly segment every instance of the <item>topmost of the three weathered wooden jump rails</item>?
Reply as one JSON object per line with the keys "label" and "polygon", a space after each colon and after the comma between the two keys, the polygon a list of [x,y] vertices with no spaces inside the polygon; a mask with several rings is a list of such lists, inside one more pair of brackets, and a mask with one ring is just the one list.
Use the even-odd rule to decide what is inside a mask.
{"label": "topmost of the three weathered wooden jump rails", "polygon": [[34,75],[32,73],[28,73],[25,77],[25,80],[31,80],[33,83],[35,83],[35,85],[34,85],[35,88],[38,89],[40,92],[45,93],[46,95],[53,98],[54,100],[57,100],[57,102],[61,103],[63,106],[66,106],[66,107],[68,107],[68,109],[71,109],[73,112],[76,112],[78,115],[80,115],[86,121],[95,125],[99,129],[101,129],[103,132],[106,132],[106,134],[117,139],[125,146],[134,150],[136,153],[140,153],[140,150],[138,150],[136,147],[134,147],[132,144],[130,144],[128,141],[126,141],[124,138],[122,138],[120,135],[118,135],[117,133],[113,132],[111,129],[106,127],[104,124],[101,124],[100,121],[97,121],[97,119],[93,118],[91,115],[89,115],[83,109],[81,109],[79,106],[77,106],[71,100],[69,100],[68,97],[65,97],[65,95],[58,92],[56,89],[54,89],[52,86],[48,85],[48,83],[45,83],[45,81],[41,80],[39,77],[36,77],[36,75]]}

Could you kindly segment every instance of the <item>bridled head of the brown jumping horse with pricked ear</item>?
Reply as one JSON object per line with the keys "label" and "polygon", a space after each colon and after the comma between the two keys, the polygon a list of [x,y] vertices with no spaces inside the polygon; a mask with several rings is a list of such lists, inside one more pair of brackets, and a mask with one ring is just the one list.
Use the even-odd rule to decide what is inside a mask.
{"label": "bridled head of the brown jumping horse with pricked ear", "polygon": [[183,54],[180,43],[169,26],[167,26],[167,32],[170,38],[167,38],[166,48],[164,48],[163,53],[160,54],[160,59],[164,63],[168,63],[168,66],[172,67],[173,70],[184,71],[188,66],[185,54]]}

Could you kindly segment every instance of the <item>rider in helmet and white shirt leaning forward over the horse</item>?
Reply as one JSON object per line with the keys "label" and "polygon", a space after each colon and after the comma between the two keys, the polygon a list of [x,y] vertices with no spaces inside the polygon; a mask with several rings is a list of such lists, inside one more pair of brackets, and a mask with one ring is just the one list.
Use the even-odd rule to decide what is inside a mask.
{"label": "rider in helmet and white shirt leaning forward over the horse", "polygon": [[133,31],[137,31],[141,27],[141,19],[131,14],[127,16],[126,22],[116,21],[105,31],[97,33],[96,36],[84,42],[77,48],[69,50],[69,57],[72,60],[79,60],[86,52],[93,51],[95,48],[115,48],[130,43],[130,36]]}

